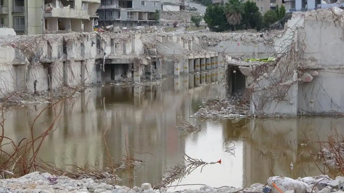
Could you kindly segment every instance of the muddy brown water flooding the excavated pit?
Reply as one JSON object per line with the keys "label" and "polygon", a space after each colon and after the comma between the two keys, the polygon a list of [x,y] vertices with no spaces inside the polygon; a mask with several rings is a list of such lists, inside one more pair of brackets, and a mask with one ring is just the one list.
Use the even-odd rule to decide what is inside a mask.
{"label": "muddy brown water flooding the excavated pit", "polygon": [[[178,82],[178,84],[176,84]],[[107,163],[105,138],[111,157],[125,153],[143,160],[132,174],[132,185],[157,184],[164,168],[183,163],[184,151],[207,162],[222,159],[222,164],[207,165],[193,171],[180,184],[248,186],[266,183],[269,176],[298,178],[319,175],[309,151],[316,145],[302,147],[305,138],[325,140],[332,131],[340,132],[343,119],[309,117],[302,119],[240,119],[200,121],[186,118],[204,128],[185,135],[177,130],[177,116],[195,113],[203,101],[224,97],[224,85],[189,88],[186,78],[169,79],[160,85],[132,88],[94,87],[65,101],[55,132],[47,137],[39,157],[56,167],[73,164],[100,167]],[[47,104],[11,109],[5,114],[6,136],[15,141],[28,137],[30,126]],[[34,125],[35,135],[52,121],[52,108],[43,112]],[[306,136],[305,136],[306,135]],[[235,156],[226,147],[235,144]],[[294,163],[291,170],[290,163]],[[322,167],[320,165],[320,167]],[[323,168],[322,168],[323,169]],[[127,174],[120,174],[126,178]],[[128,181],[123,182],[126,184]],[[175,184],[175,183],[174,183]],[[199,188],[186,185],[176,188]]]}

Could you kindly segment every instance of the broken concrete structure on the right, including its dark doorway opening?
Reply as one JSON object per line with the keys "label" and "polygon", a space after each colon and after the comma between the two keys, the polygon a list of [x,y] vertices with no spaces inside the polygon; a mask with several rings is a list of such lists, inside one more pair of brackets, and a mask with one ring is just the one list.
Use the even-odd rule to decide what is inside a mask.
{"label": "broken concrete structure on the right, including its dark doorway opening", "polygon": [[227,56],[227,93],[244,89],[256,115],[344,113],[343,16],[337,7],[293,13],[271,45],[274,61]]}

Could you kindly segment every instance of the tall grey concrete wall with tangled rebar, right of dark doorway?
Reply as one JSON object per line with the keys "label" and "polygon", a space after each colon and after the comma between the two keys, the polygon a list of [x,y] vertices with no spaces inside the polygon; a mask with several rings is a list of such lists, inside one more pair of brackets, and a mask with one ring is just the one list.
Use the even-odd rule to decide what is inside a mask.
{"label": "tall grey concrete wall with tangled rebar, right of dark doorway", "polygon": [[[261,77],[257,82],[259,87],[265,86],[267,89],[252,95],[253,113],[296,116],[298,110],[321,114],[344,112],[344,100],[338,94],[344,92],[344,87],[340,84],[344,80],[344,59],[341,52],[344,46],[341,40],[343,15],[343,10],[336,7],[332,10],[293,13],[286,31],[274,43],[277,56],[282,57],[282,60],[272,72],[267,74],[267,77]],[[284,71],[285,74],[279,73],[283,71],[285,65],[289,65],[294,70]],[[294,73],[287,73],[292,71]],[[291,85],[286,92],[287,97],[285,100],[270,98],[269,104],[258,111],[253,104],[259,104],[256,98],[258,96],[261,98],[261,92],[276,93],[283,89],[283,85],[278,86],[277,81],[269,82],[272,77],[275,80],[283,79],[284,82],[280,83],[284,85]],[[280,89],[274,92],[276,86]]]}

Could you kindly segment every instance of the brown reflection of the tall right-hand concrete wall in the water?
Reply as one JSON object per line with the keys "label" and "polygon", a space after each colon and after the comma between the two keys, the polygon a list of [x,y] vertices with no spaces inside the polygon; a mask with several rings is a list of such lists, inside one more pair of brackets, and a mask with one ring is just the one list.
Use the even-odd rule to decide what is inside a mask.
{"label": "brown reflection of the tall right-hand concrete wall in the water", "polygon": [[[340,128],[343,120],[335,118],[255,119],[223,121],[226,141],[245,137],[244,180],[247,184],[266,183],[269,176],[280,175],[298,178],[321,174],[309,155],[316,144],[301,147],[308,140],[326,141],[327,134]],[[304,132],[304,133],[303,133]],[[344,131],[338,130],[344,133]],[[290,163],[294,169],[290,169]]]}

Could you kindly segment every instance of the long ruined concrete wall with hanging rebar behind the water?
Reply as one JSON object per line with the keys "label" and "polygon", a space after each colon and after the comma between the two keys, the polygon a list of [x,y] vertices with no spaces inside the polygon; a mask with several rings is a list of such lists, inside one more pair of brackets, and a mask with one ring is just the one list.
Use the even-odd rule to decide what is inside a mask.
{"label": "long ruined concrete wall with hanging rebar behind the water", "polygon": [[[267,34],[63,33],[0,36],[1,94],[206,71],[228,54],[267,56]],[[238,45],[239,44],[239,45]],[[259,46],[257,46],[259,45]],[[240,53],[236,53],[239,50]]]}

